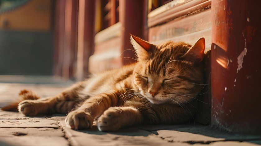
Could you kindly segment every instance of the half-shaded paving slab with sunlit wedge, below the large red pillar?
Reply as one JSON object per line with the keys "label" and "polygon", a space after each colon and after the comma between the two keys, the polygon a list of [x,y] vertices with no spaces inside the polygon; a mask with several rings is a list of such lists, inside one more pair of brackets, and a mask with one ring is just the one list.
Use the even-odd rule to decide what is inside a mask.
{"label": "half-shaded paving slab with sunlit wedge, below the large red pillar", "polygon": [[261,135],[246,135],[228,133],[211,128],[210,126],[191,125],[158,125],[140,126],[140,129],[154,131],[164,140],[171,142],[185,142],[190,144],[208,144],[213,141],[248,141],[261,140]]}

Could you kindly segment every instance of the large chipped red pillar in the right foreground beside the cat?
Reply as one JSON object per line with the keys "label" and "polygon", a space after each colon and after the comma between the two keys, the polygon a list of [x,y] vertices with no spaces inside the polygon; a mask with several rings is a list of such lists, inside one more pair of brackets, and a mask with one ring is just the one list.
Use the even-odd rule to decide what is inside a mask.
{"label": "large chipped red pillar in the right foreground beside the cat", "polygon": [[254,0],[212,0],[211,124],[261,131],[261,13]]}

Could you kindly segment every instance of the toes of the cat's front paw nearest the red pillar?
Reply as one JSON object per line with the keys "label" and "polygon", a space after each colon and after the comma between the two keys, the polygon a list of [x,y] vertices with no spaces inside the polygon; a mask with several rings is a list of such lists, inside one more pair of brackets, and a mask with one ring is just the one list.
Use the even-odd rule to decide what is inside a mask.
{"label": "toes of the cat's front paw nearest the red pillar", "polygon": [[121,128],[121,108],[109,108],[98,119],[99,131],[116,131]]}

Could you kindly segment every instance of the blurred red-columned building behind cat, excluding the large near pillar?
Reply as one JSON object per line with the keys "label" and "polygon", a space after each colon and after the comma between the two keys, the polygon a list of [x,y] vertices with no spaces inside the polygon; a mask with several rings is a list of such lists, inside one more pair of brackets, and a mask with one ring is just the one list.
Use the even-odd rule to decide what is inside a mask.
{"label": "blurred red-columned building behind cat, excluding the large near pillar", "polygon": [[[0,0],[0,74],[82,80],[135,61],[130,34],[179,41],[200,30],[210,49],[210,8],[206,0]],[[194,9],[199,16],[174,20]]]}

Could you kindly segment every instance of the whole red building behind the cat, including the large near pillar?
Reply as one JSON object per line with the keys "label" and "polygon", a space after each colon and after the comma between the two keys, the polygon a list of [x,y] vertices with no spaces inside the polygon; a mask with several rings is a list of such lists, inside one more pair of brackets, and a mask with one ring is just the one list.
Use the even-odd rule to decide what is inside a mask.
{"label": "whole red building behind the cat, including the large near pillar", "polygon": [[152,43],[204,37],[201,100],[211,107],[200,111],[211,109],[211,124],[227,131],[260,132],[259,7],[254,0],[0,0],[0,82],[79,81],[130,64],[130,34]]}

